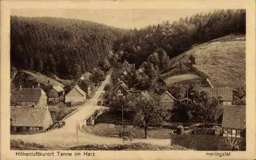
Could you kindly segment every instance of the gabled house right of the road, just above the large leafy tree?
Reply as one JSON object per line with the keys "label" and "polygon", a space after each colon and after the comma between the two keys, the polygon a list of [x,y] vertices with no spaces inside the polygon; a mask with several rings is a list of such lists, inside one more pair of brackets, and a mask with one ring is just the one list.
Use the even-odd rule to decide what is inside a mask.
{"label": "gabled house right of the road, just above the large leafy tree", "polygon": [[118,79],[118,82],[113,86],[112,91],[110,92],[110,99],[125,100],[126,96],[129,94],[129,87],[125,85],[121,79]]}

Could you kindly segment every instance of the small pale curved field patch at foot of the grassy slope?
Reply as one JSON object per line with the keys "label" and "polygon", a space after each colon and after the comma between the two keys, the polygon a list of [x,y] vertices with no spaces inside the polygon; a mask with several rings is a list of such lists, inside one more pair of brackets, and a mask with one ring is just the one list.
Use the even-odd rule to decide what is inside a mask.
{"label": "small pale curved field patch at foot of the grassy slope", "polygon": [[198,75],[192,74],[192,73],[187,73],[187,74],[182,74],[182,75],[175,75],[175,76],[170,76],[166,77],[163,79],[163,81],[166,83],[166,85],[172,85],[174,83],[182,82],[182,81],[187,81],[191,79],[200,79]]}

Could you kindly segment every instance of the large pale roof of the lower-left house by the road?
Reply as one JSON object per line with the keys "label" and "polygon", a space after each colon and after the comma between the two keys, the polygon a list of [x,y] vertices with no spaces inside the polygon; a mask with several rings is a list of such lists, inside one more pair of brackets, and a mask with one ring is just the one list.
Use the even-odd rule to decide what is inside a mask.
{"label": "large pale roof of the lower-left house by the road", "polygon": [[44,106],[11,106],[12,126],[42,127],[47,112]]}

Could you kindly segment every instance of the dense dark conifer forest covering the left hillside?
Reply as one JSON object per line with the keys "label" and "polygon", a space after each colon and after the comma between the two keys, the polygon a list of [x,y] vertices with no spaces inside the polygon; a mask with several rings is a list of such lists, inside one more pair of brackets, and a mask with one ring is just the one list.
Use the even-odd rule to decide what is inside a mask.
{"label": "dense dark conifer forest covering the left hillside", "polygon": [[104,61],[126,32],[90,21],[11,16],[11,65],[74,78]]}

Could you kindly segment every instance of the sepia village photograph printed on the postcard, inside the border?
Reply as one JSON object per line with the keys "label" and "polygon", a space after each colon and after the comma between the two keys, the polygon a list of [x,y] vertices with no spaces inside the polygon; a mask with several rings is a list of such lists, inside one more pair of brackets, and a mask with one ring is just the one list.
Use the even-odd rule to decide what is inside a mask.
{"label": "sepia village photograph printed on the postcard, inside the border", "polygon": [[246,8],[10,9],[13,156],[248,151],[247,16]]}

